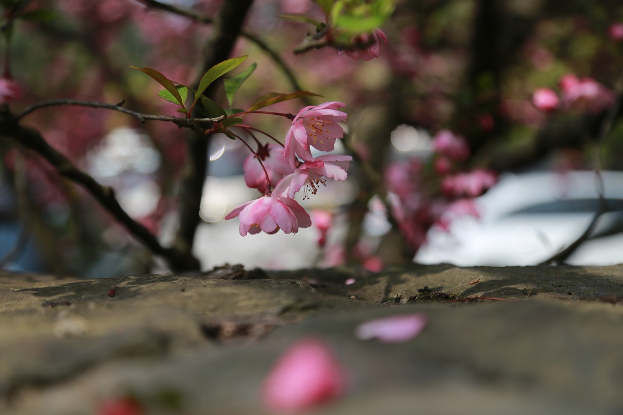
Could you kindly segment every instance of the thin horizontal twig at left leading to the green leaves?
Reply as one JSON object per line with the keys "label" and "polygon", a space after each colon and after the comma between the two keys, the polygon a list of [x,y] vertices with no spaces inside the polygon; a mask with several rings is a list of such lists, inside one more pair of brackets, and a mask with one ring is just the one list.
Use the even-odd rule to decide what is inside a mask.
{"label": "thin horizontal twig at left leading to the green leaves", "polygon": [[85,100],[72,100],[72,99],[55,99],[55,100],[47,100],[42,102],[37,102],[36,104],[31,105],[30,107],[24,108],[24,110],[16,115],[15,119],[17,121],[26,117],[26,115],[39,110],[40,108],[47,107],[57,107],[59,105],[77,105],[79,107],[91,107],[91,108],[105,108],[107,110],[115,110],[118,112],[122,112],[127,115],[131,115],[132,117],[136,117],[140,120],[141,123],[145,123],[147,120],[154,121],[168,121],[179,125],[180,127],[193,128],[193,130],[198,129],[201,131],[199,126],[196,126],[197,123],[214,123],[219,122],[223,118],[221,117],[215,118],[191,118],[191,117],[172,117],[171,115],[153,115],[153,114],[143,114],[136,111],[127,110],[126,108],[121,107],[123,101],[120,101],[117,104],[110,104],[105,102],[93,102],[93,101],[85,101]]}

